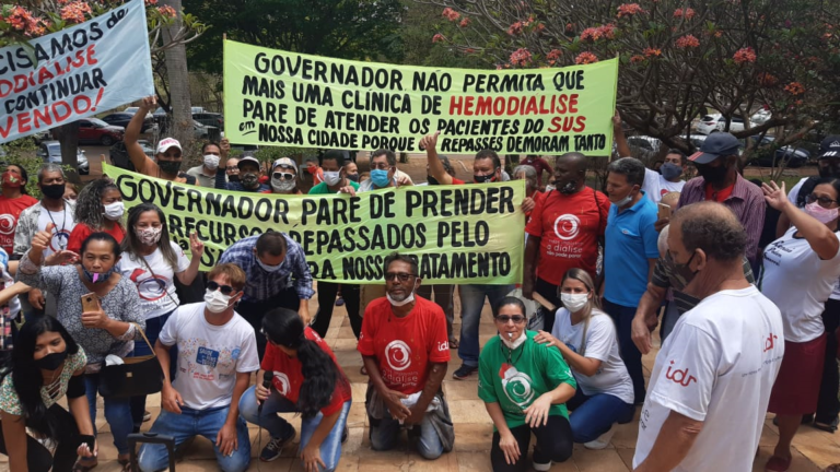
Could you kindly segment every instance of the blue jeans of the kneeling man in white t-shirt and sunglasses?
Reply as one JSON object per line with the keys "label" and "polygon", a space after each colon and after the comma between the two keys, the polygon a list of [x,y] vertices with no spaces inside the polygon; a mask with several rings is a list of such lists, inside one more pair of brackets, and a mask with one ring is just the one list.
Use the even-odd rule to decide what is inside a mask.
{"label": "blue jeans of the kneeling man in white t-shirt and sunglasses", "polygon": [[[175,447],[180,446],[185,440],[194,436],[203,436],[213,442],[215,460],[219,462],[219,468],[222,472],[243,472],[250,462],[250,439],[248,438],[248,427],[243,418],[236,418],[238,449],[234,449],[231,456],[224,456],[219,450],[219,447],[215,446],[215,438],[219,435],[219,430],[224,426],[230,410],[230,406],[207,410],[192,410],[182,406],[180,414],[161,410],[161,415],[158,416],[150,433],[174,437]],[[138,462],[142,472],[156,472],[166,469],[170,465],[166,446],[143,445],[140,447]]]}

